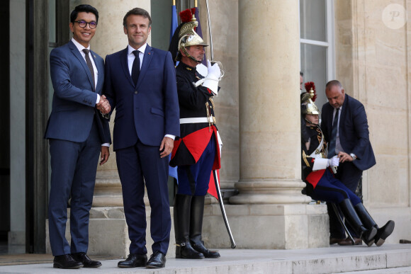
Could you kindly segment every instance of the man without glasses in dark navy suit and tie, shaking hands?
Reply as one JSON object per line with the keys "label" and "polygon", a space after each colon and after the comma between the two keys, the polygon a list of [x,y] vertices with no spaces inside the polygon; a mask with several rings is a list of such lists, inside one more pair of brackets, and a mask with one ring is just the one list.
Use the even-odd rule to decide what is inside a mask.
{"label": "man without glasses in dark navy suit and tie, shaking hands", "polygon": [[[107,55],[104,94],[116,108],[113,149],[123,189],[130,255],[118,267],[163,268],[171,217],[169,154],[180,134],[176,73],[170,52],[147,45],[150,14],[133,8],[123,19],[128,46]],[[153,254],[147,262],[145,187],[151,207]]]}

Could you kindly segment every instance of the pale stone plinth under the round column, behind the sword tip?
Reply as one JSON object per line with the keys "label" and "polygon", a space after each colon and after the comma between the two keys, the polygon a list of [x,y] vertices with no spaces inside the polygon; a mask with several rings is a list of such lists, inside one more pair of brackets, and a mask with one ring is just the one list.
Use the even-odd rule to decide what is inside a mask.
{"label": "pale stone plinth under the round column, behind the sword tip", "polygon": [[[225,205],[240,249],[307,249],[329,246],[325,205]],[[211,248],[229,248],[219,205],[204,211],[203,240]]]}

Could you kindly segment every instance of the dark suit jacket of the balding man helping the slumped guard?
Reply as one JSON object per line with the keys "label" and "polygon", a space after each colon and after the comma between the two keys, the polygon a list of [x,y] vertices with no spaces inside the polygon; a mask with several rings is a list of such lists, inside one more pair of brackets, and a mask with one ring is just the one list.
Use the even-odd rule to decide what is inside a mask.
{"label": "dark suit jacket of the balding man helping the slumped guard", "polygon": [[[332,113],[330,103],[322,105],[321,129],[327,142],[332,130]],[[368,121],[364,105],[345,94],[339,117],[339,141],[346,153],[354,153],[358,157],[352,163],[361,171],[376,164],[373,148],[369,139]]]}

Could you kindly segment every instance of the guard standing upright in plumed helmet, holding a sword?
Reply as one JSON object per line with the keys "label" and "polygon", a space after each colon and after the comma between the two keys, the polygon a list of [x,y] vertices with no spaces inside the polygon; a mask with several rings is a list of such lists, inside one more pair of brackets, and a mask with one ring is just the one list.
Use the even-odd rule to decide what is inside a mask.
{"label": "guard standing upright in plumed helmet, holding a sword", "polygon": [[[195,18],[193,18],[195,20]],[[218,93],[221,71],[208,61],[208,74],[196,70],[204,58],[203,39],[194,31],[197,21],[181,23],[169,51],[175,61],[180,106],[180,137],[174,141],[170,166],[178,166],[178,190],[174,199],[176,258],[218,258],[201,239],[204,198],[210,174],[220,169],[220,147],[215,127],[213,97]]]}

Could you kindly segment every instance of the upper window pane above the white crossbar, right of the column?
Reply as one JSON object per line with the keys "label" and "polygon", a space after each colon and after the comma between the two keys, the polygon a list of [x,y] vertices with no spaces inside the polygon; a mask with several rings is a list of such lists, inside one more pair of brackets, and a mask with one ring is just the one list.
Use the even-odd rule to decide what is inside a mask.
{"label": "upper window pane above the white crossbar, right of the column", "polygon": [[325,0],[300,0],[300,38],[327,42]]}

